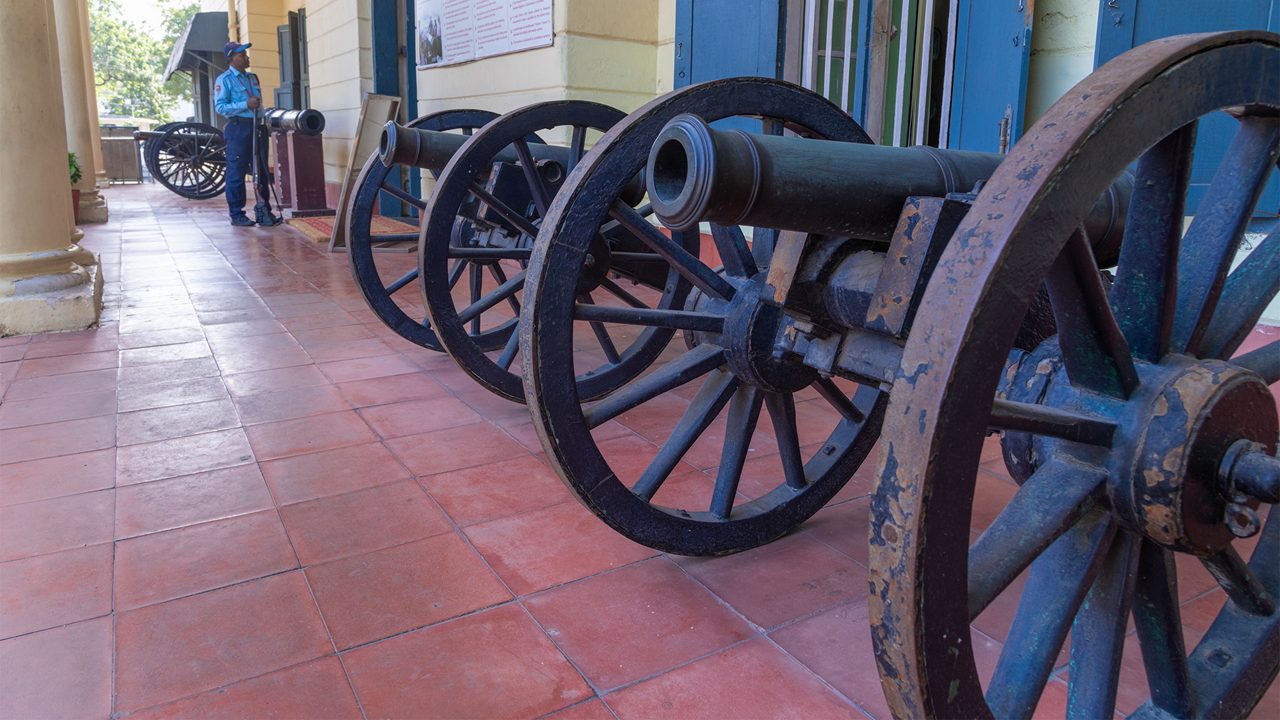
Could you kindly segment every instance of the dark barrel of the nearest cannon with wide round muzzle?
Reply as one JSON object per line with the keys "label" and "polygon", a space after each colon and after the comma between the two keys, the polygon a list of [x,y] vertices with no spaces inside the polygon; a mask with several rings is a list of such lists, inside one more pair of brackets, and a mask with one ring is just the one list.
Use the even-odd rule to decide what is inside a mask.
{"label": "dark barrel of the nearest cannon with wide round muzzle", "polygon": [[[888,242],[909,196],[969,192],[1002,159],[722,131],[684,114],[658,135],[646,176],[654,214],[675,231],[712,222]],[[1130,188],[1119,182],[1085,222],[1100,261],[1119,252]]]}

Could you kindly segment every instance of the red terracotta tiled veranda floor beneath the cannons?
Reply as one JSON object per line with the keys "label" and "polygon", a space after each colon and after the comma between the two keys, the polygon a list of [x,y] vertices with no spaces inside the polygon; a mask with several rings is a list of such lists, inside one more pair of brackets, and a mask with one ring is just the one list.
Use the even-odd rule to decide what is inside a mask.
{"label": "red terracotta tiled veranda floor beneath the cannons", "polygon": [[[758,551],[652,552],[522,409],[385,331],[346,256],[106,195],[102,327],[0,340],[0,719],[887,716],[867,477]],[[979,518],[1014,491],[995,455],[979,483]],[[1183,568],[1194,641],[1222,596]],[[975,623],[984,674],[1012,609]]]}

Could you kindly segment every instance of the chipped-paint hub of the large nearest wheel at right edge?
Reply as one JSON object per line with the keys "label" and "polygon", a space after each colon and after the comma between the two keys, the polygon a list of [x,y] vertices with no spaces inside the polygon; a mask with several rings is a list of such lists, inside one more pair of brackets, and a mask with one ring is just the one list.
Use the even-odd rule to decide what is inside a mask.
{"label": "chipped-paint hub of the large nearest wheel at right edge", "polygon": [[[1121,520],[1184,552],[1216,552],[1240,534],[1233,515],[1257,500],[1224,483],[1224,459],[1240,441],[1275,452],[1275,400],[1253,373],[1220,360],[1139,369],[1114,448],[1111,501]],[[1229,512],[1229,506],[1231,511]]]}

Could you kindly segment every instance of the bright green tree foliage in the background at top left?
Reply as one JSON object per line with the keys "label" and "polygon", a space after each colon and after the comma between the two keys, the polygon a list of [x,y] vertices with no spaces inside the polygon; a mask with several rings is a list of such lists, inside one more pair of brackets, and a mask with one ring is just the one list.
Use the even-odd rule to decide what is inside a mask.
{"label": "bright green tree foliage in the background at top left", "polygon": [[191,81],[164,68],[174,42],[200,10],[195,0],[157,0],[156,32],[125,15],[119,0],[90,0],[90,36],[99,109],[111,115],[169,120],[191,99]]}

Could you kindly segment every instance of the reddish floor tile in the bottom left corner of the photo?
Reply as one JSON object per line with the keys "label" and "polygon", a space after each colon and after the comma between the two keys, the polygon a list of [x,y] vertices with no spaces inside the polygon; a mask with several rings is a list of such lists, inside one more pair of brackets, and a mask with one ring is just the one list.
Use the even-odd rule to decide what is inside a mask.
{"label": "reddish floor tile in the bottom left corner of the photo", "polygon": [[0,717],[108,717],[111,619],[0,641]]}

